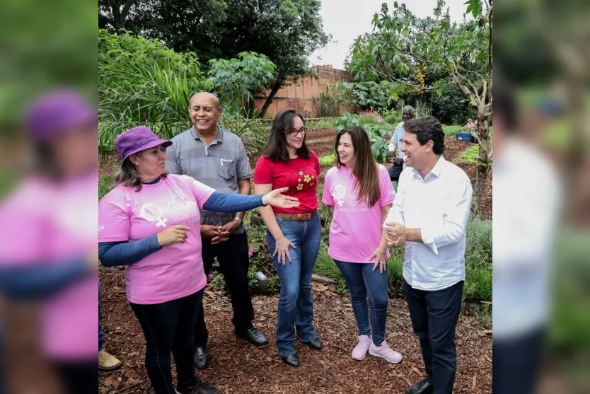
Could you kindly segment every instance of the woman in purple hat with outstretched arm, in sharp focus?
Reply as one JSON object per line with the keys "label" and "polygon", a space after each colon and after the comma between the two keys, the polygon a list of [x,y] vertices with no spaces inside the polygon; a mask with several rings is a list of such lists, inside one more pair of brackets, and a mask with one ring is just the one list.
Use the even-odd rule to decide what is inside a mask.
{"label": "woman in purple hat with outstretched arm, in sharp focus", "polygon": [[226,194],[186,175],[168,175],[164,149],[170,144],[144,126],[115,140],[122,164],[115,187],[98,206],[98,253],[106,267],[126,266],[127,299],[144,331],[146,370],[156,394],[214,394],[218,391],[196,378],[193,369],[193,330],[207,284],[199,209],[235,212],[299,203],[282,190]]}

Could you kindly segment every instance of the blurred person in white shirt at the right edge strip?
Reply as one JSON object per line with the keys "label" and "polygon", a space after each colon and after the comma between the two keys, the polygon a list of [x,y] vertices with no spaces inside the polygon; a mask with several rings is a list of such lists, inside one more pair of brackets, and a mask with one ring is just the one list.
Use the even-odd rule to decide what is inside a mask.
{"label": "blurred person in white shirt at the right edge strip", "polygon": [[522,135],[511,88],[494,84],[493,391],[534,393],[560,212],[555,168]]}

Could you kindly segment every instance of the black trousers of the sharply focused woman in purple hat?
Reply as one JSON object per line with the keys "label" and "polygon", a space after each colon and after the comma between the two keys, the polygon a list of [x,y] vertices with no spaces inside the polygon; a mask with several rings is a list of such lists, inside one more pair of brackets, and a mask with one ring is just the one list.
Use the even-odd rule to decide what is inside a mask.
{"label": "black trousers of the sharply focused woman in purple hat", "polygon": [[170,352],[174,355],[178,386],[195,384],[195,371],[192,369],[195,340],[192,330],[202,299],[201,290],[165,303],[131,303],[146,337],[146,370],[156,394],[176,393],[172,383]]}

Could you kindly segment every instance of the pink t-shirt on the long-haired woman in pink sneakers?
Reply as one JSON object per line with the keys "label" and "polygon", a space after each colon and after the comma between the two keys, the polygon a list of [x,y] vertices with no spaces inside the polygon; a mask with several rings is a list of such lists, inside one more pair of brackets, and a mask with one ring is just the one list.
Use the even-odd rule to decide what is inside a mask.
{"label": "pink t-shirt on the long-haired woman in pink sneakers", "polygon": [[[384,166],[378,165],[378,202],[368,207],[357,201],[356,178],[345,166],[325,174],[322,202],[334,207],[330,224],[328,255],[343,262],[375,262],[369,259],[381,242],[383,208],[395,199],[395,191]],[[389,250],[387,257],[389,257]]]}

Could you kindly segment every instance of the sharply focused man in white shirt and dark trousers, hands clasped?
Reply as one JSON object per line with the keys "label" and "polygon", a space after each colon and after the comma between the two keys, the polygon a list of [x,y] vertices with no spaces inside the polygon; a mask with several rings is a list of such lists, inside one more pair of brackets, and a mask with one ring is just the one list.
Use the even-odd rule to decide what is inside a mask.
{"label": "sharply focused man in white shirt and dark trousers, hands clasped", "polygon": [[444,132],[436,118],[405,122],[402,151],[408,168],[383,226],[388,245],[405,245],[403,289],[427,373],[405,393],[451,394],[473,190],[465,172],[442,156]]}

